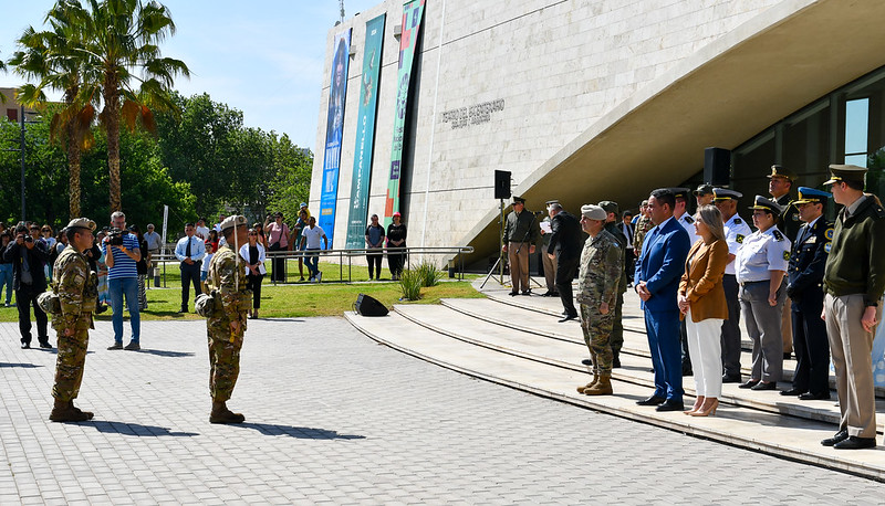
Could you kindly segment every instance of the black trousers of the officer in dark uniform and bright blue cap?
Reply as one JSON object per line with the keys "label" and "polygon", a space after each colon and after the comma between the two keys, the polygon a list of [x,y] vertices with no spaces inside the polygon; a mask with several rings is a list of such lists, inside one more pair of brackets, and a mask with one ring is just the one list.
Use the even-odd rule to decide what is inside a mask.
{"label": "black trousers of the officer in dark uniform and bright blue cap", "polygon": [[[820,288],[819,288],[820,289]],[[802,302],[804,310],[793,302],[793,349],[795,350],[795,375],[793,388],[822,396],[830,392],[830,340],[826,323],[821,319],[823,299],[809,304]]]}

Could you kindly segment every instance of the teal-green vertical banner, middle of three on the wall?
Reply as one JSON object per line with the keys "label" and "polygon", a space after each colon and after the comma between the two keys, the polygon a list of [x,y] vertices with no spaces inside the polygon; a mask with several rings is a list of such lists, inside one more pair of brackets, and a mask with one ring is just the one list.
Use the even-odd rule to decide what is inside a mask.
{"label": "teal-green vertical banner, middle of three on the wall", "polygon": [[[375,139],[375,112],[378,105],[378,70],[384,45],[386,14],[366,23],[366,45],[363,51],[363,78],[360,86],[360,114],[356,122],[356,148],[353,156],[351,213],[347,218],[347,246],[365,245],[368,187],[372,180],[372,147]],[[325,229],[323,229],[325,230]]]}

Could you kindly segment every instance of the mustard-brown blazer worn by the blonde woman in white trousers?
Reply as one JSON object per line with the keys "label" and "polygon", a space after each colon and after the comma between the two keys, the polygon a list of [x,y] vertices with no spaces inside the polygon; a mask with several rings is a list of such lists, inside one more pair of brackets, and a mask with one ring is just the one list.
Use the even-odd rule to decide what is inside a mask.
{"label": "mustard-brown blazer worn by the blonde woman in white trousers", "polygon": [[[688,261],[693,260],[689,265]],[[726,292],[722,275],[728,264],[728,244],[714,241],[705,244],[698,240],[688,252],[685,273],[679,281],[679,294],[685,295],[691,306],[691,321],[707,318],[728,319]],[[681,315],[680,318],[685,318]]]}

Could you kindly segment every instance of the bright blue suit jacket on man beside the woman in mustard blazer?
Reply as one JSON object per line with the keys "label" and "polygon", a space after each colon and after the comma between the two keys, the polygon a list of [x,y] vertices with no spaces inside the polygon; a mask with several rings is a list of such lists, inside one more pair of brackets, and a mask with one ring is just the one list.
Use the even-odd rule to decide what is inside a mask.
{"label": "bright blue suit jacket on man beside the woman in mustard blazer", "polygon": [[648,232],[635,278],[635,284],[644,281],[652,293],[652,298],[643,302],[643,309],[679,310],[676,292],[690,247],[688,232],[675,219],[669,220],[663,229]]}

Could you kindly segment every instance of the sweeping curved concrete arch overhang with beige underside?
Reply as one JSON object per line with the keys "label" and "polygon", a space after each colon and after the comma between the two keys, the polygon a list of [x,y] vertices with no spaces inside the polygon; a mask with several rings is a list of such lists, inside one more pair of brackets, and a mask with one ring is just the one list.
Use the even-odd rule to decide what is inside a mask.
{"label": "sweeping curved concrete arch overhang with beige underside", "polygon": [[[638,89],[531,173],[514,194],[576,209],[634,207],[704,167],[704,148],[735,148],[829,92],[885,64],[885,1],[787,0],[701,48]],[[464,239],[498,244],[499,210]]]}

